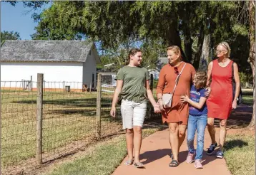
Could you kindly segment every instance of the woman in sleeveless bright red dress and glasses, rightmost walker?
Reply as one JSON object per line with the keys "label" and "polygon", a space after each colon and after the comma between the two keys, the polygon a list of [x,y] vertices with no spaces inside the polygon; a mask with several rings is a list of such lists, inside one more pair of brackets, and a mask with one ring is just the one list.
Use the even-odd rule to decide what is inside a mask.
{"label": "woman in sleeveless bright red dress and glasses, rightmost walker", "polygon": [[[220,120],[220,150],[217,152],[216,157],[222,159],[224,156],[223,145],[227,133],[227,118],[230,117],[231,110],[237,107],[237,100],[240,92],[240,79],[237,64],[229,58],[230,46],[228,43],[219,43],[217,45],[216,53],[217,59],[209,63],[207,73],[207,85],[210,85],[209,80],[212,78],[212,83],[210,85],[212,92],[207,100],[207,129],[212,139],[212,144],[207,150],[207,154],[212,154],[217,147],[214,126],[214,120],[217,118]],[[235,97],[232,95],[232,65],[236,83]]]}

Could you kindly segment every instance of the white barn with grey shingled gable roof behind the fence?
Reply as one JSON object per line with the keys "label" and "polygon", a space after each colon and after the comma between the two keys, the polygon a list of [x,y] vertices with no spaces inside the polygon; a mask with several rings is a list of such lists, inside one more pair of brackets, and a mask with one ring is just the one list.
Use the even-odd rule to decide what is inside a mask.
{"label": "white barn with grey shingled gable roof behind the fence", "polygon": [[100,62],[94,42],[5,41],[1,46],[1,87],[21,86],[5,81],[32,78],[36,82],[37,73],[43,73],[46,82],[70,82],[71,88],[76,88],[72,87],[76,83],[81,88],[78,84],[83,83],[95,88]]}

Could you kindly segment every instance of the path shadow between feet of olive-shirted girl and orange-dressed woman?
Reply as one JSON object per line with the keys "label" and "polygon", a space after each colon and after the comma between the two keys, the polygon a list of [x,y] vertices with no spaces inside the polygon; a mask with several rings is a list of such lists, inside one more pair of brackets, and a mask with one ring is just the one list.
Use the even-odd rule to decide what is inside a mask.
{"label": "path shadow between feet of olive-shirted girl and orange-dressed woman", "polygon": [[157,159],[161,159],[162,157],[165,157],[171,153],[171,149],[157,149],[154,151],[148,151],[144,152],[139,155],[139,159],[145,161],[142,161],[142,164],[149,164],[152,161],[156,161]]}

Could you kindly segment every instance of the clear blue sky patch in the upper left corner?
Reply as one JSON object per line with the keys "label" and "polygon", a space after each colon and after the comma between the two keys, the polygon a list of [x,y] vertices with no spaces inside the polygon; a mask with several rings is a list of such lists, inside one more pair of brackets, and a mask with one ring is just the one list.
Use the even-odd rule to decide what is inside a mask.
{"label": "clear blue sky patch in the upper left corner", "polygon": [[31,40],[31,34],[35,33],[34,27],[37,23],[34,23],[31,18],[31,14],[34,12],[40,13],[43,9],[49,7],[50,4],[46,4],[40,10],[31,11],[30,8],[25,8],[21,1],[17,2],[15,6],[7,2],[1,2],[1,31],[16,31],[19,32],[22,40]]}

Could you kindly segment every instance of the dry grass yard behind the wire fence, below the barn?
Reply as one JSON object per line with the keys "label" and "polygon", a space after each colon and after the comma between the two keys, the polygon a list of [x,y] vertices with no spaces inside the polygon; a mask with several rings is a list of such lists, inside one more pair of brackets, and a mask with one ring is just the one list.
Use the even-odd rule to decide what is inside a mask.
{"label": "dry grass yard behind the wire fence, below the barn", "polygon": [[[119,120],[109,117],[111,97],[102,92],[103,137],[122,128]],[[67,145],[77,140],[89,143],[97,137],[97,92],[45,92],[43,103],[43,152],[47,156],[58,153],[59,148],[69,151]],[[1,90],[2,167],[23,163],[35,153],[36,92]]]}

